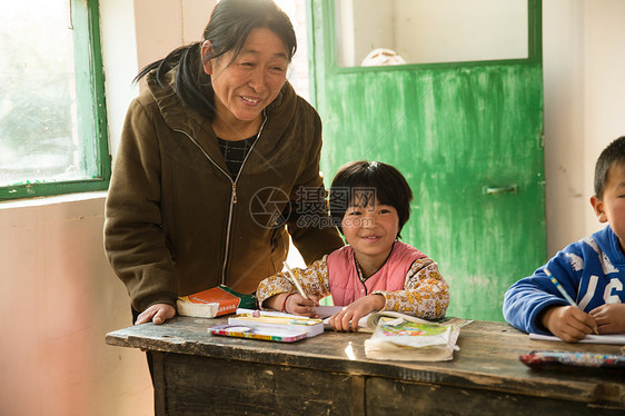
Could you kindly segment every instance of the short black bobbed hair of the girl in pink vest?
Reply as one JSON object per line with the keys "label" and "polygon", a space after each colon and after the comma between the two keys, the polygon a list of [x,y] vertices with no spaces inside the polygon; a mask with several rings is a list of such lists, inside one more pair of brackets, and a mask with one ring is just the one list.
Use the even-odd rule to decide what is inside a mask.
{"label": "short black bobbed hair of the girl in pink vest", "polygon": [[[361,198],[358,202],[355,198]],[[359,160],[343,166],[330,186],[330,217],[333,224],[343,232],[340,222],[347,208],[354,205],[389,205],[397,210],[399,230],[410,217],[413,191],[406,178],[390,165],[380,161]]]}

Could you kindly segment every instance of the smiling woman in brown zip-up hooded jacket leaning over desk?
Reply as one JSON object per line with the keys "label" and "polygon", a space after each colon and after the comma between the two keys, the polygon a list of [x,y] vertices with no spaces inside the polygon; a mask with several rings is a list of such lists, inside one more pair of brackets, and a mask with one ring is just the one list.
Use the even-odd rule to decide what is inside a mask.
{"label": "smiling woman in brown zip-up hooded jacket leaning over desk", "polygon": [[286,80],[296,51],[270,0],[221,0],[201,41],[143,68],[106,206],[105,247],[136,324],[224,284],[252,293],[282,267],[343,246],[327,220],[321,121]]}

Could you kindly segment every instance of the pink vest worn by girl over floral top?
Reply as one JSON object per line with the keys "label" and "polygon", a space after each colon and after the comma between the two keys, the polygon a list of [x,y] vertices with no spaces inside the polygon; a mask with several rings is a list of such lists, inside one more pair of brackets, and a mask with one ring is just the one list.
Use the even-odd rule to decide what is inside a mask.
{"label": "pink vest worn by girl over floral top", "polygon": [[347,306],[377,290],[403,290],[410,266],[423,257],[426,256],[413,246],[395,241],[385,264],[363,283],[358,277],[354,249],[345,246],[333,251],[327,257],[327,264],[334,304]]}

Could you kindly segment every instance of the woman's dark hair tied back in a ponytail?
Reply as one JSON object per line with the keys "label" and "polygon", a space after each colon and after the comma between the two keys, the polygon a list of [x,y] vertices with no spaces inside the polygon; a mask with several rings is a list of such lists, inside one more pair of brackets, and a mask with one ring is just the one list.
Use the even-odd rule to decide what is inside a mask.
{"label": "woman's dark hair tied back in a ponytail", "polygon": [[212,43],[212,53],[207,60],[229,51],[236,58],[249,32],[257,28],[275,32],[285,42],[288,59],[291,60],[297,50],[295,30],[288,16],[272,0],[221,0],[212,9],[201,41],[177,48],[163,59],[146,66],[135,77],[135,82],[156,70],[155,78],[162,85],[162,77],[178,66],[176,92],[182,102],[212,117],[215,105],[209,88],[210,77],[204,71],[201,61],[201,44],[205,40]]}

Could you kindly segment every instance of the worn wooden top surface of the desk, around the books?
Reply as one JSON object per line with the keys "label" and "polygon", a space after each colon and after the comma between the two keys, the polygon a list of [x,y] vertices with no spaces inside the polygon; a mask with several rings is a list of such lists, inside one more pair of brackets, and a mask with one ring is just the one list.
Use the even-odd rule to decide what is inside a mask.
{"label": "worn wooden top surface of the desk, around the books", "polygon": [[326,331],[294,344],[212,336],[209,326],[226,318],[176,317],[165,325],[145,324],[107,334],[107,344],[157,351],[210,356],[351,375],[483,388],[625,408],[625,376],[611,370],[533,370],[518,357],[535,349],[622,354],[622,347],[529,340],[503,323],[474,321],[460,330],[459,351],[442,363],[383,361],[365,357],[370,334]]}

